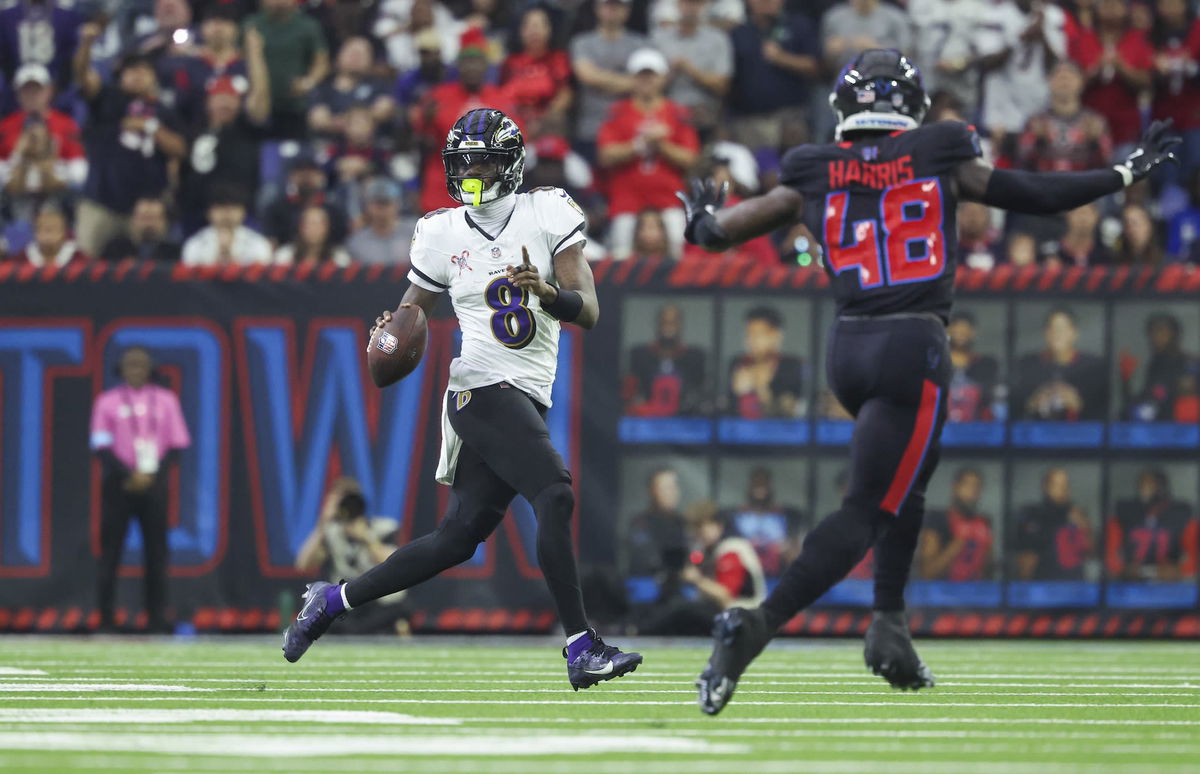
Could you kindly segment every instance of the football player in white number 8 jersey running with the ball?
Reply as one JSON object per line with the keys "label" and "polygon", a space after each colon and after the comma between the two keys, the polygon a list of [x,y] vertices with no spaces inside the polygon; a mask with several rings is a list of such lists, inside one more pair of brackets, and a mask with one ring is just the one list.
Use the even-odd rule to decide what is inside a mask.
{"label": "football player in white number 8 jersey running with the ball", "polygon": [[[524,139],[500,110],[460,118],[442,160],[446,188],[463,206],[436,210],[418,223],[402,306],[419,306],[428,317],[449,292],[462,329],[438,463],[438,481],[451,487],[449,512],[434,532],[360,577],[313,583],[284,635],[284,656],[304,655],[346,610],[469,559],[520,493],[538,516],[538,564],[566,635],[568,678],[575,690],[590,688],[632,672],[642,656],[606,646],[588,628],[571,546],[571,474],[545,421],[559,324],[594,328],[600,313],[583,258],[586,218],[559,188],[516,192]],[[376,325],[390,319],[384,312]]]}

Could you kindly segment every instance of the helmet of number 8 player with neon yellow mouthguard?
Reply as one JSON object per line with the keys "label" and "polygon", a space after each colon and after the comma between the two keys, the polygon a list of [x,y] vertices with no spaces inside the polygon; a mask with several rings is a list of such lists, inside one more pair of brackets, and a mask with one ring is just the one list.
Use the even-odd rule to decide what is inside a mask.
{"label": "helmet of number 8 player with neon yellow mouthguard", "polygon": [[521,127],[494,108],[469,110],[450,127],[442,163],[455,202],[479,206],[514,193],[524,176]]}

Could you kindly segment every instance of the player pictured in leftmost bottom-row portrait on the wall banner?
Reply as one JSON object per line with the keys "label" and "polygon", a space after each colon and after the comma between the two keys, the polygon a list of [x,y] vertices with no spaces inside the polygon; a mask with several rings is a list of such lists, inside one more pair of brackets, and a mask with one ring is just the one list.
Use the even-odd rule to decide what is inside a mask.
{"label": "player pictured in leftmost bottom-row portrait on the wall banner", "polygon": [[646,488],[646,510],[630,520],[625,532],[626,575],[673,576],[688,558],[679,474],[670,467],[656,468],[647,478]]}

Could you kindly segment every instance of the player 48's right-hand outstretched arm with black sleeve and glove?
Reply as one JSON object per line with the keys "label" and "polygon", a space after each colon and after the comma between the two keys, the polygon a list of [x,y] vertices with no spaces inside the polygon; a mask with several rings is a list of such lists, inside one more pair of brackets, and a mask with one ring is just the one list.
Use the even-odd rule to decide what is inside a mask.
{"label": "player 48's right-hand outstretched arm with black sleeve and glove", "polygon": [[1108,169],[1086,172],[1022,172],[995,169],[974,158],[959,166],[955,181],[959,196],[1013,212],[1052,215],[1145,179],[1159,164],[1176,161],[1171,149],[1180,138],[1168,136],[1170,121],[1154,121],[1129,156]]}

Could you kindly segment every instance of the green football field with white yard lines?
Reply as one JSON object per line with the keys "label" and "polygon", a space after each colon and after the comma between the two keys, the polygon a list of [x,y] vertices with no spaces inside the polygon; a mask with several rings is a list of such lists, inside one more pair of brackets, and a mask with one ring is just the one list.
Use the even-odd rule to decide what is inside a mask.
{"label": "green football field with white yard lines", "polygon": [[[617,640],[617,638],[614,638]],[[776,642],[701,715],[702,641],[572,692],[559,643],[0,638],[0,772],[1200,772],[1200,646],[923,642],[901,694],[857,641]]]}

